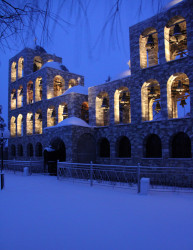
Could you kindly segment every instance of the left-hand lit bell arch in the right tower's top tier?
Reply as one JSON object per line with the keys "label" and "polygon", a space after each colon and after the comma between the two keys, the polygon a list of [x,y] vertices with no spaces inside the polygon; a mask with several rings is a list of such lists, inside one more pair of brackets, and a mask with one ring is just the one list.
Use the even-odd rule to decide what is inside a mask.
{"label": "left-hand lit bell arch in the right tower's top tier", "polygon": [[147,28],[140,35],[139,49],[142,69],[158,64],[158,34],[155,28]]}

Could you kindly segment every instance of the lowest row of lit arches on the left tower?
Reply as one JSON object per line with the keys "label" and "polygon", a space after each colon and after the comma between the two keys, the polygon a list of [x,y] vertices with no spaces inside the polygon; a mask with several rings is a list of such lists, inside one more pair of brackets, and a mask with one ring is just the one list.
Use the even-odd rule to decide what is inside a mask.
{"label": "lowest row of lit arches on the left tower", "polygon": [[[57,116],[58,113],[58,116]],[[33,112],[28,112],[26,115],[26,134],[33,134],[33,127],[35,122],[35,134],[42,134],[43,128],[43,114],[42,110],[38,109],[35,114]],[[47,109],[47,127],[55,126],[57,122],[61,122],[68,118],[68,105],[63,102],[58,106],[58,112],[54,106],[50,106]],[[88,102],[83,102],[80,107],[80,118],[85,122],[89,122],[89,107]],[[19,114],[17,118],[15,116],[11,117],[10,120],[10,133],[12,137],[23,136],[23,115]]]}

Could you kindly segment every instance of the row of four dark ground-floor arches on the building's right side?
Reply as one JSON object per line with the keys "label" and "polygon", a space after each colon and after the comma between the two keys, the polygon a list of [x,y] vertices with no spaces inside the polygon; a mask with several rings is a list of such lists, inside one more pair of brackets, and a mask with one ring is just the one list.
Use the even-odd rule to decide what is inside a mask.
{"label": "row of four dark ground-floor arches on the building's right side", "polygon": [[[115,146],[116,157],[130,158],[131,143],[126,136],[118,138]],[[101,138],[98,142],[99,157],[110,158],[110,142],[107,138]],[[191,140],[184,133],[179,132],[170,138],[169,145],[171,158],[191,158]],[[162,158],[162,142],[158,135],[150,134],[143,142],[143,157],[144,158]]]}

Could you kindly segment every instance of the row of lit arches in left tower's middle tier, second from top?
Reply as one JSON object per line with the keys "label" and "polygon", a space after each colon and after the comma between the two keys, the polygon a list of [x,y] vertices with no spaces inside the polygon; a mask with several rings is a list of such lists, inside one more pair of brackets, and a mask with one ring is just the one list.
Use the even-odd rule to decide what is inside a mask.
{"label": "row of lit arches in left tower's middle tier, second from top", "polygon": [[[68,81],[68,88],[74,87],[78,85],[78,81],[76,79],[70,79]],[[37,77],[35,80],[35,88],[32,81],[27,83],[27,104],[31,104],[34,101],[38,102],[42,100],[43,93],[43,79],[42,77]],[[62,76],[57,75],[53,79],[53,84],[47,86],[47,99],[52,97],[56,97],[62,95],[65,91],[65,81]],[[11,109],[20,108],[23,106],[23,86],[20,85],[16,90],[15,88],[11,91]]]}

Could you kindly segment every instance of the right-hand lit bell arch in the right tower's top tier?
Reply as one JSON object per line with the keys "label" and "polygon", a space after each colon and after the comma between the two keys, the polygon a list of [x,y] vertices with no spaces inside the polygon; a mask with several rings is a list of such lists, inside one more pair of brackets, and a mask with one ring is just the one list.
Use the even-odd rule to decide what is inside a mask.
{"label": "right-hand lit bell arch in the right tower's top tier", "polygon": [[188,55],[186,20],[175,16],[164,28],[166,61],[182,58]]}

